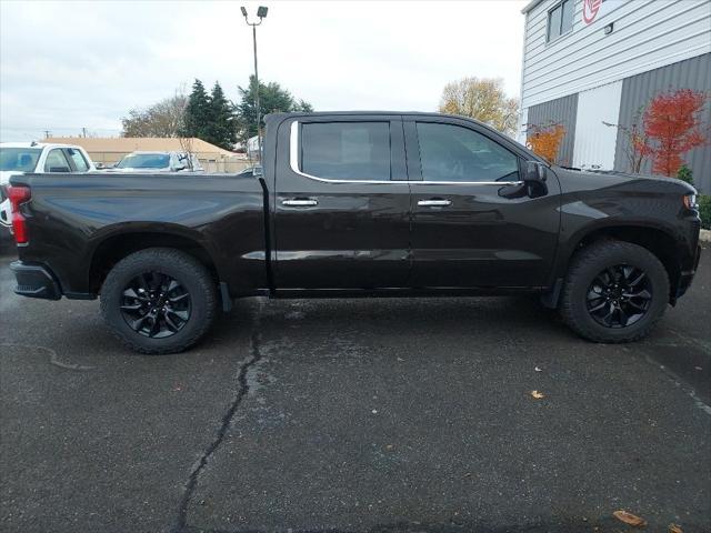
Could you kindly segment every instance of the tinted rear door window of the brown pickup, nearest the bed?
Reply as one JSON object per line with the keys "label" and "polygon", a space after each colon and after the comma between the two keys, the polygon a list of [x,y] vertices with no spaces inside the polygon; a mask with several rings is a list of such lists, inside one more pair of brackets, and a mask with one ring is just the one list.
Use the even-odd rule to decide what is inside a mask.
{"label": "tinted rear door window of the brown pickup, nearest the bed", "polygon": [[302,124],[301,170],[333,180],[390,180],[390,123]]}

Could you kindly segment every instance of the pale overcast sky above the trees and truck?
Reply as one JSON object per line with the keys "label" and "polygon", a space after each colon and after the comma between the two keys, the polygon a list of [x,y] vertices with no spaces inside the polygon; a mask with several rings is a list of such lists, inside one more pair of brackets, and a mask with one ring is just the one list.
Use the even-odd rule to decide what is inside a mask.
{"label": "pale overcast sky above the trees and truck", "polygon": [[[316,110],[433,111],[444,83],[519,95],[525,0],[263,1],[260,79]],[[0,0],[0,140],[117,135],[121,117],[216,80],[237,100],[252,36],[237,1]]]}

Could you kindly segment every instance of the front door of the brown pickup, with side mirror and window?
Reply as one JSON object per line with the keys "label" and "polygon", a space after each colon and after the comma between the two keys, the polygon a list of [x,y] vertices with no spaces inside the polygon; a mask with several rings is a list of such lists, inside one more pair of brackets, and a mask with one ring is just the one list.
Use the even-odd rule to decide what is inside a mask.
{"label": "front door of the brown pickup, with side mirror and window", "polygon": [[470,121],[411,117],[404,131],[411,286],[547,284],[560,225],[555,177],[523,183],[525,152]]}

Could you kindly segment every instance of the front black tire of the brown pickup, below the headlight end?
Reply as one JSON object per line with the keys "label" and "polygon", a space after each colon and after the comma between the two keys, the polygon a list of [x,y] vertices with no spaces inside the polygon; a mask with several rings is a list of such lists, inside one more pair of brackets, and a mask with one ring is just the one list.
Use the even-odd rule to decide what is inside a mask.
{"label": "front black tire of the brown pickup, below the headlight end", "polygon": [[[612,280],[611,284],[617,283],[613,274],[628,269],[638,269],[631,275],[632,278],[637,278],[638,272],[645,274],[645,278],[642,278],[645,286],[644,300],[633,302],[634,309],[639,309],[640,304],[645,309],[635,311],[642,314],[635,316],[635,322],[629,323],[629,325],[625,324],[629,320],[628,314],[623,314],[617,306],[618,304],[622,305],[621,300],[618,300],[620,296],[609,295],[608,292],[604,295],[595,295],[599,292],[608,291],[608,285],[599,286],[603,283],[599,283],[598,280]],[[612,274],[608,272],[612,272]],[[603,278],[600,278],[601,274]],[[621,278],[619,276],[618,280],[622,281]],[[623,296],[628,299],[625,301],[629,301],[629,293],[633,290],[628,288],[627,293],[623,289],[618,290],[620,293],[624,293]],[[649,294],[651,298],[648,298]],[[610,299],[614,301],[608,302]],[[667,269],[653,253],[630,242],[603,240],[583,248],[571,260],[561,296],[560,313],[568,326],[584,339],[593,342],[622,343],[645,336],[664,314],[668,303],[669,276]],[[599,305],[604,306],[597,311],[599,314],[593,313]],[[612,322],[617,320],[618,324],[605,325],[600,315],[607,312],[611,313],[612,309],[618,313],[618,319],[608,320]],[[631,308],[628,306],[627,310],[629,311],[629,309]],[[624,318],[620,319],[620,315]]]}

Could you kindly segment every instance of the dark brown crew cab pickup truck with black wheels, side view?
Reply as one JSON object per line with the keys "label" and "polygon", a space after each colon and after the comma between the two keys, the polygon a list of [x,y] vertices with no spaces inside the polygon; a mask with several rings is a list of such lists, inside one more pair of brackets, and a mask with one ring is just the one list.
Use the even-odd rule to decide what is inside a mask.
{"label": "dark brown crew cab pickup truck with black wheels, side view", "polygon": [[100,295],[143,353],[259,294],[540,293],[580,335],[633,341],[700,253],[687,183],[549,165],[441,114],[273,114],[263,173],[26,174],[9,195],[16,292]]}

